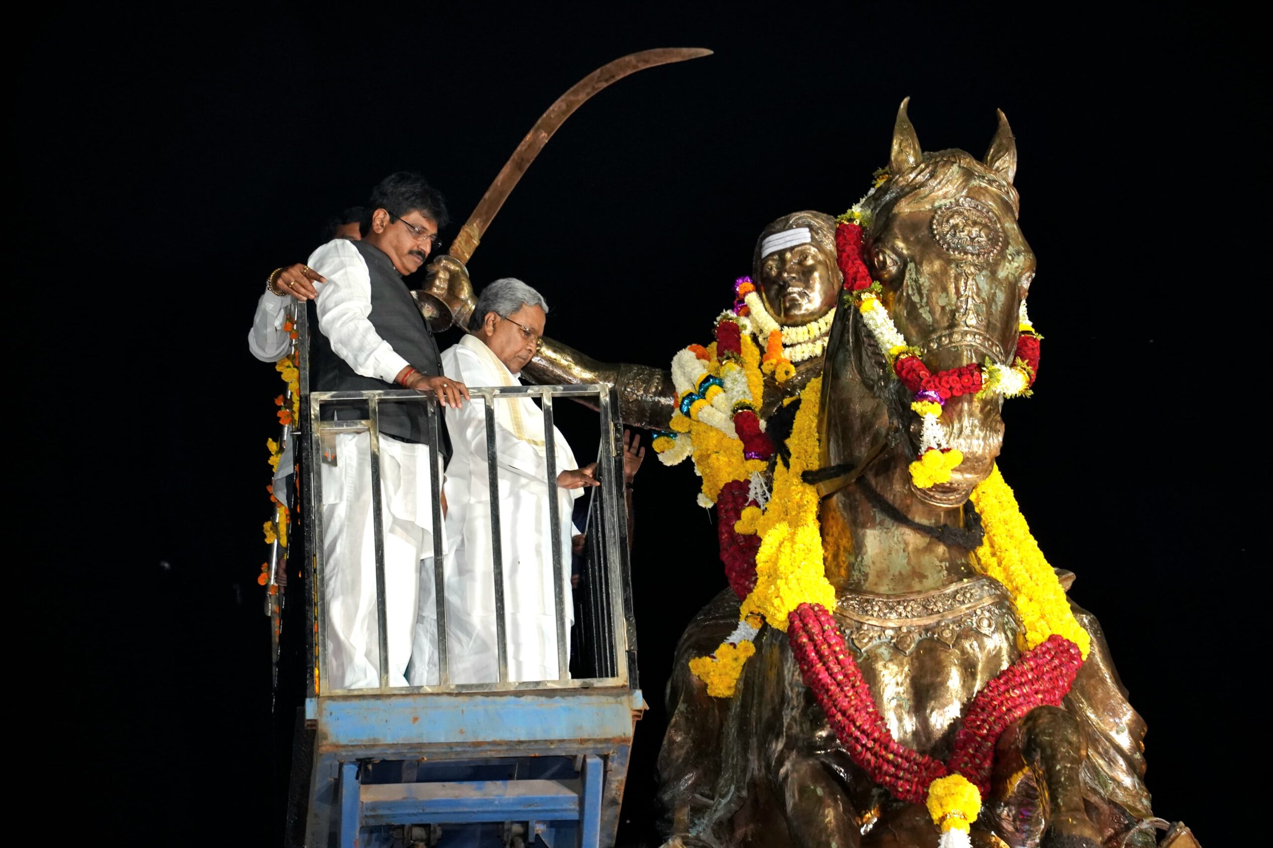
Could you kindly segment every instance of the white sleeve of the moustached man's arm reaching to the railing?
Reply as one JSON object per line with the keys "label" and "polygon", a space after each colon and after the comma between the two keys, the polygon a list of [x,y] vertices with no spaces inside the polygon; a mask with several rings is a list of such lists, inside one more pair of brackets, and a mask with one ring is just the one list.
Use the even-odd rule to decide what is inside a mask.
{"label": "white sleeve of the moustached man's arm reaching to the railing", "polygon": [[372,276],[367,261],[344,238],[327,242],[309,256],[309,267],[327,278],[314,283],[318,329],[337,357],[355,373],[387,383],[410,363],[381,339],[370,322]]}

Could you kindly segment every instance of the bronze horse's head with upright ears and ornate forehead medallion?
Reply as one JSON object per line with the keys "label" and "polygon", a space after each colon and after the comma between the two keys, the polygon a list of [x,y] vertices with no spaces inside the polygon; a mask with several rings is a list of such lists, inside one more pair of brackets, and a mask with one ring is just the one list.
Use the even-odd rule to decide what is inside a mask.
{"label": "bronze horse's head with upright ears and ornate forehead medallion", "polygon": [[[903,101],[889,180],[864,202],[871,216],[866,260],[883,285],[881,300],[894,323],[906,343],[920,350],[934,374],[987,358],[1011,363],[1018,307],[1035,270],[1034,252],[1017,225],[1017,192],[1012,187],[1016,164],[1016,143],[1002,112],[989,153],[979,162],[962,150],[923,153]],[[848,345],[843,344],[845,334]],[[885,379],[882,351],[867,336],[861,318],[853,316],[839,336],[841,367],[835,364],[834,353],[827,360],[829,373],[839,371],[843,379],[841,368],[847,365],[863,378],[876,401],[883,401],[872,405],[859,396],[853,406],[867,415],[848,427],[878,430],[887,409],[892,421],[903,424],[913,457],[919,416],[909,410],[909,393],[899,381]],[[850,348],[857,355],[848,353]],[[914,489],[915,495],[937,507],[955,507],[967,499],[999,453],[1001,406],[998,396],[962,395],[946,401],[941,424],[964,461],[948,483]],[[838,414],[830,407],[827,411]],[[867,432],[844,437],[876,441]],[[841,448],[840,453],[849,458],[855,451]]]}

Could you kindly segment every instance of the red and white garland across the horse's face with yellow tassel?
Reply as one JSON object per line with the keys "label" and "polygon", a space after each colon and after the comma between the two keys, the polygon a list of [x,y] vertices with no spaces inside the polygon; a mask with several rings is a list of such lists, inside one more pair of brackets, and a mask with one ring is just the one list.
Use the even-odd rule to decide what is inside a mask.
{"label": "red and white garland across the horse's face with yellow tassel", "polygon": [[983,364],[962,365],[931,373],[919,358],[919,349],[909,345],[897,332],[897,326],[881,302],[883,286],[871,279],[862,257],[863,220],[859,208],[840,215],[835,228],[836,260],[844,272],[844,288],[858,308],[862,322],[871,331],[880,350],[889,358],[892,371],[914,395],[910,409],[922,419],[919,452],[910,463],[910,477],[920,489],[932,488],[951,479],[964,455],[950,447],[938,420],[942,407],[951,397],[974,395],[1002,395],[1003,397],[1029,397],[1039,372],[1039,341],[1021,300],[1017,349],[1011,365],[1003,365],[987,357]]}

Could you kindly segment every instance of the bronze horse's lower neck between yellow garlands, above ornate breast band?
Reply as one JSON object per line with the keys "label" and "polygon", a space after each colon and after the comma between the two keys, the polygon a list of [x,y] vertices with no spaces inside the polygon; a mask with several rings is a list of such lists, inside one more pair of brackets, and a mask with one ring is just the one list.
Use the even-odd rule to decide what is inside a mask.
{"label": "bronze horse's lower neck between yellow garlands, above ornate breast band", "polygon": [[[862,476],[881,498],[920,525],[959,527],[962,512],[924,504],[910,489],[906,457],[890,451]],[[862,483],[822,503],[826,576],[839,592],[925,592],[975,576],[969,553],[906,527],[872,503]]]}

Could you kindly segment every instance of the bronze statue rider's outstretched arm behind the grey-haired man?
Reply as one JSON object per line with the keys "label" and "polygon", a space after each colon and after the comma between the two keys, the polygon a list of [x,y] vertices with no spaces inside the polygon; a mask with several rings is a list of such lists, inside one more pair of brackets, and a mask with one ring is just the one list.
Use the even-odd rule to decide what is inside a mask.
{"label": "bronze statue rider's outstretched arm behind the grey-haired man", "polygon": [[[633,427],[666,430],[676,407],[670,372],[626,362],[597,362],[552,339],[544,339],[535,359],[522,368],[522,376],[542,385],[611,383],[619,390],[619,416]],[[583,402],[593,406],[587,400]]]}

